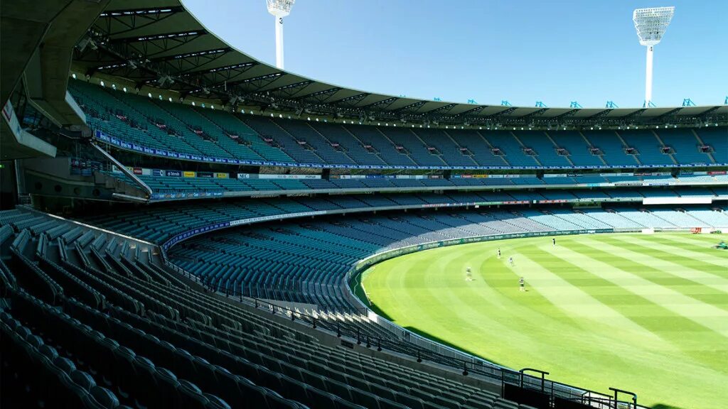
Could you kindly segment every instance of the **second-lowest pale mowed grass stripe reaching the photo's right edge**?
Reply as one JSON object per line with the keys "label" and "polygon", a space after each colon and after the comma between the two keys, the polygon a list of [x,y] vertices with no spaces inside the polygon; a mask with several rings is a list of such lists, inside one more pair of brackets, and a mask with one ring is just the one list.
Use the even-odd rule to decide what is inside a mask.
{"label": "second-lowest pale mowed grass stripe reaching the photo's right edge", "polygon": [[665,247],[660,246],[660,250],[657,250],[649,241],[633,242],[625,237],[614,237],[612,239],[601,238],[599,240],[585,238],[580,242],[583,245],[606,251],[620,258],[627,258],[649,269],[661,271],[662,273],[670,274],[671,276],[695,284],[711,287],[721,293],[728,294],[728,279],[716,274],[692,269],[692,267],[685,265],[685,263],[674,262],[676,259],[681,258],[681,256],[676,255],[680,253],[680,249],[678,248],[670,247],[669,251],[665,251]]}

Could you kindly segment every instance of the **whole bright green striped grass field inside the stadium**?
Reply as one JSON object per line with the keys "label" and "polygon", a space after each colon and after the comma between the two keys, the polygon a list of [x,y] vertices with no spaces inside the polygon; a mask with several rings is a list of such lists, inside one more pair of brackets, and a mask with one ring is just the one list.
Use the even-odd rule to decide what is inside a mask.
{"label": "whole bright green striped grass field inside the stadium", "polygon": [[654,408],[724,408],[728,250],[711,246],[727,236],[456,245],[392,258],[362,280],[384,317],[501,365],[597,392],[628,389]]}

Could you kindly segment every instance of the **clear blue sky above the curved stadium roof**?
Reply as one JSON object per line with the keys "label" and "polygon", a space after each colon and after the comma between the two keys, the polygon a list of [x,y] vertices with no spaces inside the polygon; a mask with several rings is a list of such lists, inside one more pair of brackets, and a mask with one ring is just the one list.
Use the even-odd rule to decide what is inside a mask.
{"label": "clear blue sky above the curved stadium roof", "polygon": [[[265,0],[183,2],[234,47],[275,62]],[[285,68],[412,98],[641,106],[645,47],[632,11],[663,6],[676,12],[654,51],[654,103],[724,103],[724,0],[297,0],[285,19]]]}

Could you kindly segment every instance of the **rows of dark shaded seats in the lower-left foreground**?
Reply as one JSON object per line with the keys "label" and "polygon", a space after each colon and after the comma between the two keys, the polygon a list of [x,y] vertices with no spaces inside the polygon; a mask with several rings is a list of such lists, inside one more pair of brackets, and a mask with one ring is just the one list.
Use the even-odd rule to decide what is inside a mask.
{"label": "rows of dark shaded seats in the lower-left foreground", "polygon": [[[412,356],[401,365],[322,342],[339,330],[334,314],[321,314],[324,333],[312,333],[310,319],[211,293],[162,263],[157,247],[13,212],[22,229],[0,226],[2,363],[12,374],[2,377],[4,404],[424,409],[488,408],[498,397],[463,383],[459,368],[448,377],[413,370],[414,346],[397,349]],[[347,317],[362,345],[397,336]]]}

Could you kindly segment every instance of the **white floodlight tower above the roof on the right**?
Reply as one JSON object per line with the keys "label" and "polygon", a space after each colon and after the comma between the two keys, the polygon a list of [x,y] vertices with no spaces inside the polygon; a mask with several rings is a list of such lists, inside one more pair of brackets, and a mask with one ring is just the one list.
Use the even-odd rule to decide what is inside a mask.
{"label": "white floodlight tower above the roof on the right", "polygon": [[632,20],[637,29],[639,44],[647,47],[647,72],[644,84],[644,106],[652,104],[652,52],[675,14],[675,7],[656,7],[652,9],[636,9]]}

